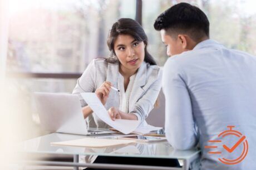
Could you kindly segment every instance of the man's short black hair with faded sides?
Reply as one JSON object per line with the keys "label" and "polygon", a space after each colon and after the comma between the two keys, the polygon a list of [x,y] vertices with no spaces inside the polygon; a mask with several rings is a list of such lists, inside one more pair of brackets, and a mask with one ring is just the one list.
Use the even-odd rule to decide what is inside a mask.
{"label": "man's short black hair with faded sides", "polygon": [[157,17],[154,28],[164,29],[172,35],[188,34],[198,42],[205,36],[209,38],[209,25],[209,20],[201,9],[189,3],[178,3]]}

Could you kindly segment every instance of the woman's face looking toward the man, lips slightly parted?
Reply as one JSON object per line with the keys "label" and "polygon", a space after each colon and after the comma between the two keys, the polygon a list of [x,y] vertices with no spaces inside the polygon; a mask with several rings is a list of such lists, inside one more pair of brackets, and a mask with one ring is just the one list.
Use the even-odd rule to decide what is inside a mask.
{"label": "woman's face looking toward the man, lips slightly parted", "polygon": [[131,35],[118,35],[114,50],[124,72],[136,72],[145,58],[144,42],[136,41]]}

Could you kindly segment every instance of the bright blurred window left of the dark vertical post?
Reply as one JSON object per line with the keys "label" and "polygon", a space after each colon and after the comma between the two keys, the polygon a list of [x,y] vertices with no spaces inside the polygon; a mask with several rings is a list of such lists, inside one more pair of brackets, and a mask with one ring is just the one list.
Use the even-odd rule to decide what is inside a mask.
{"label": "bright blurred window left of the dark vertical post", "polygon": [[[79,75],[109,55],[107,34],[117,19],[135,18],[136,1],[11,0],[10,12],[7,71]],[[76,79],[22,82],[32,91],[71,92]]]}

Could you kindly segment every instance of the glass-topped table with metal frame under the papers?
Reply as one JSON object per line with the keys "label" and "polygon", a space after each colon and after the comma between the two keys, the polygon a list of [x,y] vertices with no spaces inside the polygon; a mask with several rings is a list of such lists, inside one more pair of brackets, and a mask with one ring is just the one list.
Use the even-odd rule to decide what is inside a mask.
{"label": "glass-topped table with metal frame under the papers", "polygon": [[[189,169],[189,165],[199,157],[200,150],[179,151],[174,150],[167,141],[161,142],[140,142],[130,143],[129,145],[118,145],[103,148],[72,147],[72,146],[53,146],[51,142],[60,142],[68,140],[77,140],[85,137],[114,138],[120,136],[119,133],[110,133],[105,135],[72,135],[66,133],[51,133],[49,135],[33,138],[21,143],[19,152],[21,153],[39,153],[39,154],[67,154],[73,156],[73,162],[56,161],[29,161],[28,164],[42,166],[66,166],[78,169],[78,167],[106,168],[106,169]],[[106,164],[106,163],[80,163],[79,156],[118,156],[135,158],[167,158],[183,159],[183,167],[159,167],[159,166],[138,166],[124,164]]]}

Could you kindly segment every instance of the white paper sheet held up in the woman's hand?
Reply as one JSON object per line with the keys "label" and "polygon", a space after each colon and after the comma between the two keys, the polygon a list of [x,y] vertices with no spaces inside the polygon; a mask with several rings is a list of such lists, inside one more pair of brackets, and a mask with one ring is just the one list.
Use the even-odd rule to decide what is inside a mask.
{"label": "white paper sheet held up in the woman's hand", "polygon": [[107,123],[107,125],[115,128],[116,130],[125,134],[129,134],[139,126],[139,121],[137,120],[116,119],[113,121],[110,118],[109,113],[105,109],[104,105],[102,105],[100,99],[94,92],[82,92],[81,96],[102,121]]}

